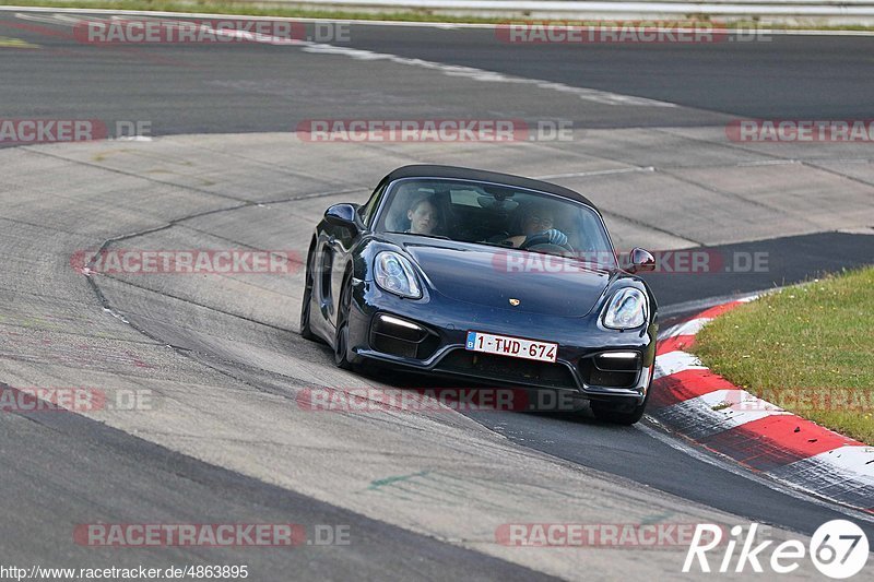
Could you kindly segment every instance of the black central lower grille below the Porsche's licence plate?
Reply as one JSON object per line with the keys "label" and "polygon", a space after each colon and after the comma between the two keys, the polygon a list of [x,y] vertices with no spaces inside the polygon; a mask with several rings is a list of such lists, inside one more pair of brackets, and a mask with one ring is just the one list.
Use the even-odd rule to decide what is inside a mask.
{"label": "black central lower grille below the Porsche's licence plate", "polygon": [[496,356],[466,349],[453,349],[440,360],[437,369],[523,384],[577,388],[574,375],[560,364]]}

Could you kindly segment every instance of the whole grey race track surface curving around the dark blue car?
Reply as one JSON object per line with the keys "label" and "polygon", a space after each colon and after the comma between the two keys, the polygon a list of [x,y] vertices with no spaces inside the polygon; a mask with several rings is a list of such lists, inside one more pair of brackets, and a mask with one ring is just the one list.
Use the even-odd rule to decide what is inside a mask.
{"label": "whole grey race track surface curving around the dark blue car", "polygon": [[[248,565],[253,580],[661,580],[681,575],[685,547],[518,548],[495,532],[712,520],[803,537],[849,515],[874,536],[869,515],[788,490],[651,421],[309,412],[299,401],[308,388],[420,379],[351,375],[302,340],[299,264],[285,276],[83,276],[70,264],[103,245],[299,258],[328,205],[362,202],[390,169],[469,165],[583,191],[621,249],[704,250],[720,269],[677,273],[669,259],[668,272],[648,275],[666,324],[714,298],[874,262],[871,143],[736,143],[725,133],[744,118],[872,117],[870,37],[509,46],[488,28],[355,24],[349,41],[330,45],[105,47],[76,41],[80,17],[0,12],[0,117],[147,121],[154,139],[0,143],[0,383],[145,391],[151,404],[0,414],[4,565]],[[564,120],[572,139],[294,134],[310,119],[447,118]],[[761,269],[734,262],[754,254]],[[99,522],[297,523],[310,542],[328,524],[347,527],[351,542],[74,541],[78,524]]]}

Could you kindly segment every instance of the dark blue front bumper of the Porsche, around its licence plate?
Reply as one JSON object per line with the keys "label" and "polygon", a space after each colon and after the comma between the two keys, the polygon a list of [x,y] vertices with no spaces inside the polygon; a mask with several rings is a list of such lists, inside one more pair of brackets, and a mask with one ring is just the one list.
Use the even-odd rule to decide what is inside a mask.
{"label": "dark blue front bumper of the Porsche, around its licence plate", "polygon": [[[649,390],[656,357],[657,323],[618,332],[600,325],[598,314],[582,318],[555,317],[512,309],[485,308],[429,293],[418,300],[382,292],[373,282],[355,281],[350,313],[350,345],[356,359],[374,359],[417,372],[470,378],[477,381],[569,391],[587,400],[641,403]],[[378,317],[379,316],[379,317]],[[383,316],[416,344],[385,342],[375,328]],[[421,342],[413,325],[424,330]],[[540,338],[558,344],[555,364],[470,352],[466,333],[475,330],[503,335]],[[420,334],[421,335],[421,334]],[[599,355],[634,352],[639,355],[633,373],[612,377],[599,371]],[[622,379],[622,385],[598,380]],[[594,380],[594,381],[593,381]]]}

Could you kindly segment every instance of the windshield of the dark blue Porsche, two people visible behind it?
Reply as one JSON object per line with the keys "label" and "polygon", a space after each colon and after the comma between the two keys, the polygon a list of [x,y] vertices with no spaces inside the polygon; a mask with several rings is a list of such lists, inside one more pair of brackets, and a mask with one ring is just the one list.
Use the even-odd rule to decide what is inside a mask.
{"label": "windshield of the dark blue Porsche, two people visible behind it", "polygon": [[405,233],[615,265],[598,214],[565,198],[485,182],[404,179],[392,185],[376,231]]}

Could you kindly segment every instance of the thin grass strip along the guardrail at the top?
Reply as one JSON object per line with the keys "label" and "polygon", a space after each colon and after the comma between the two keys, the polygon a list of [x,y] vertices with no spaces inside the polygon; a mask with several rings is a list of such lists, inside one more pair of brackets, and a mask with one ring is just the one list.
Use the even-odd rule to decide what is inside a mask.
{"label": "thin grass strip along the guardrail at the top", "polygon": [[[306,2],[306,0],[300,0]],[[192,0],[172,1],[172,0],[10,0],[9,5],[16,7],[37,7],[37,8],[81,8],[95,10],[153,10],[157,12],[204,12],[211,14],[239,14],[249,16],[279,16],[286,19],[324,19],[324,20],[380,20],[380,21],[403,21],[403,22],[446,22],[446,23],[468,23],[468,24],[500,24],[510,21],[523,22],[531,20],[519,16],[474,16],[466,14],[445,14],[434,13],[430,10],[406,10],[398,12],[379,11],[355,11],[355,10],[324,10],[312,8],[284,8],[281,5],[265,7],[253,5],[250,2],[234,2],[223,0]],[[604,21],[622,22],[621,19],[602,19],[601,21],[591,20],[591,23]],[[704,16],[682,16],[680,22],[698,20],[707,21]],[[555,22],[572,23],[575,19],[554,19]],[[544,19],[536,19],[534,22],[545,22]],[[587,21],[589,22],[589,21]],[[668,19],[665,22],[672,22]],[[788,24],[761,24],[756,21],[737,21],[723,23],[714,21],[720,27],[728,29],[743,29],[746,32],[757,28],[773,31],[857,31],[874,32],[874,26],[845,24],[839,26],[826,26],[818,24],[811,25],[788,25]],[[668,25],[668,24],[666,24]]]}

